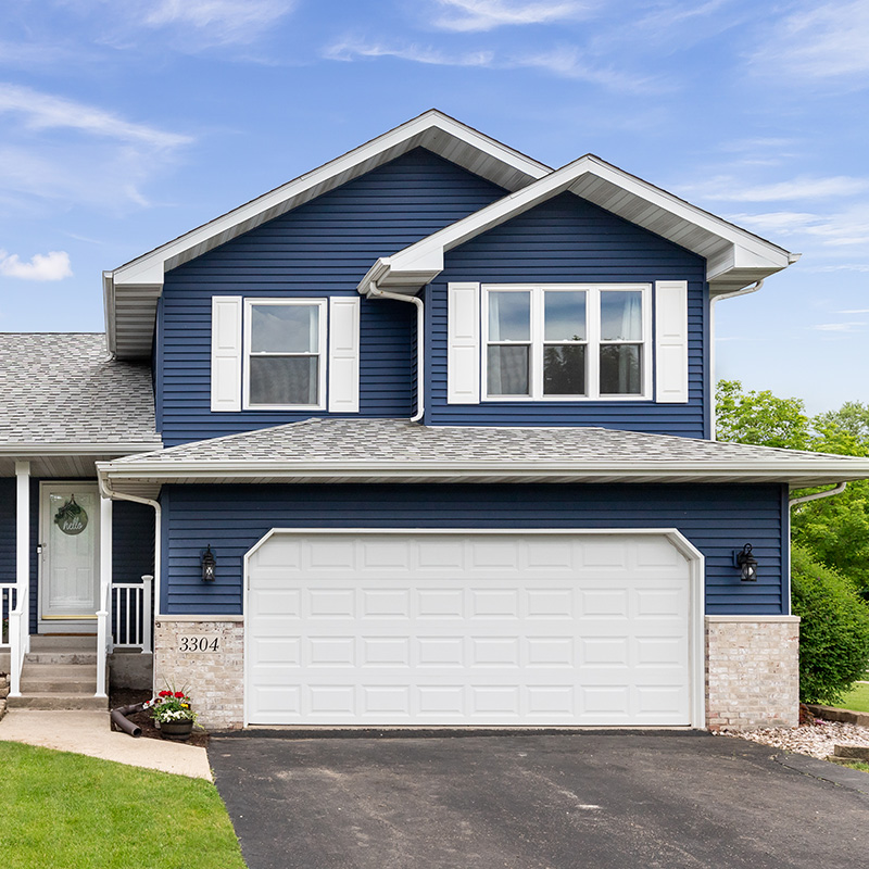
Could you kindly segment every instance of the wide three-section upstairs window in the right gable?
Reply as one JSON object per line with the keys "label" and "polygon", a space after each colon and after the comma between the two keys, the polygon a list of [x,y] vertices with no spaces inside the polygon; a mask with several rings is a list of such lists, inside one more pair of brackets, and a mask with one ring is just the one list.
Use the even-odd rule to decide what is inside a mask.
{"label": "wide three-section upstairs window in the right gable", "polygon": [[647,285],[483,287],[489,399],[651,396]]}

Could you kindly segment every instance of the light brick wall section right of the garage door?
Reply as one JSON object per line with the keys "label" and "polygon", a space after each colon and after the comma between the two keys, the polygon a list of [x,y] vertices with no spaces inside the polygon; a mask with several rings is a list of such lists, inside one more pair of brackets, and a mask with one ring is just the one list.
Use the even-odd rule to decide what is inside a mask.
{"label": "light brick wall section right of the garage door", "polygon": [[799,618],[706,616],[709,730],[799,723]]}

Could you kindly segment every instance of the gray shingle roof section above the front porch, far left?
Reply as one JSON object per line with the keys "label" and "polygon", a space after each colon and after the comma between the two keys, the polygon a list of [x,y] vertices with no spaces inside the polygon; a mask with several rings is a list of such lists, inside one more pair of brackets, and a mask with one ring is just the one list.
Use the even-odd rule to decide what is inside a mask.
{"label": "gray shingle roof section above the front porch, far left", "polygon": [[105,336],[0,332],[0,446],[160,446],[148,364],[112,360]]}

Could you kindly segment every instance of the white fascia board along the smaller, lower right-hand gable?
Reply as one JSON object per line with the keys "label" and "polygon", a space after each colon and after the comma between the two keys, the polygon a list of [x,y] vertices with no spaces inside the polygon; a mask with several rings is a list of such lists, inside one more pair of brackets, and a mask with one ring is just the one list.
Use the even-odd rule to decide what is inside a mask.
{"label": "white fascia board along the smaller, lower right-hand gable", "polygon": [[[421,275],[439,274],[434,273],[434,269],[440,263],[442,270],[444,252],[464,244],[466,241],[558,196],[565,190],[570,190],[581,197],[582,193],[579,190],[581,190],[582,181],[591,177],[607,181],[637,201],[647,204],[653,210],[659,209],[667,215],[676,217],[683,225],[696,227],[708,234],[708,236],[719,239],[717,252],[714,256],[709,257],[708,250],[701,253],[707,259],[709,268],[707,279],[709,280],[725,279],[726,282],[733,284],[742,279],[741,272],[751,273],[752,275],[757,274],[763,277],[780,272],[792,262],[795,262],[795,255],[783,248],[720,217],[716,217],[647,181],[629,175],[593,154],[587,154],[528,185],[528,187],[511,193],[468,217],[411,244],[391,257],[379,261],[380,267],[376,272],[373,268],[366,276],[368,284],[366,284],[365,291],[370,286],[373,276],[378,287],[386,287],[390,284],[413,287],[414,273]],[[600,203],[595,204],[600,205]],[[600,206],[606,207],[605,205]],[[655,231],[654,219],[643,224],[643,226],[652,232]],[[666,230],[663,228],[659,235],[664,238],[667,237]],[[676,243],[682,243],[682,247],[685,247],[683,242]],[[700,253],[700,251],[695,252]],[[730,275],[730,280],[726,280],[728,274]],[[751,277],[747,282],[756,279],[756,277]],[[418,286],[411,291],[418,289]],[[360,291],[364,291],[362,286]]]}

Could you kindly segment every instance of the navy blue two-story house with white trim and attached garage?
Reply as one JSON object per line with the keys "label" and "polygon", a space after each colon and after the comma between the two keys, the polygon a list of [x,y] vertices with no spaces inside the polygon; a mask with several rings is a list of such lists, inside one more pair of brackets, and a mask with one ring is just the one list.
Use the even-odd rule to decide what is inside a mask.
{"label": "navy blue two-story house with white trim and attached garage", "polygon": [[106,272],[0,341],[10,702],[87,645],[211,728],[795,725],[789,491],[869,461],[715,442],[711,362],[795,259],[430,111]]}

